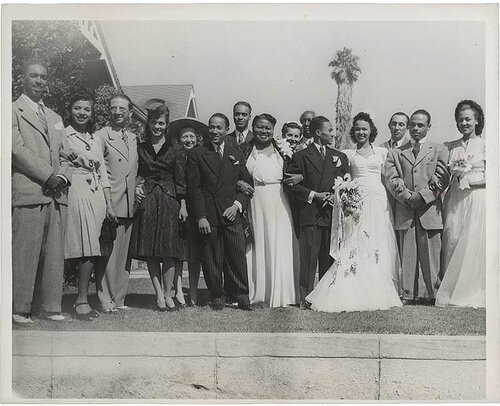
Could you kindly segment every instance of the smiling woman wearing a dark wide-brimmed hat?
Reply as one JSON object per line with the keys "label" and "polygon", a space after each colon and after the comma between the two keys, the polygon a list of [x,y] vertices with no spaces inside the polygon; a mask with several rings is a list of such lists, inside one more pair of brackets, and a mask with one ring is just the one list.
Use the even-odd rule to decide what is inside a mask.
{"label": "smiling woman wearing a dark wide-brimmed hat", "polygon": [[183,117],[173,120],[168,126],[171,139],[176,139],[182,149],[177,160],[181,168],[181,176],[176,179],[176,192],[181,202],[179,217],[183,225],[183,238],[187,247],[187,261],[189,271],[189,304],[195,306],[198,301],[198,282],[201,271],[201,242],[196,219],[190,216],[189,202],[186,200],[185,169],[187,154],[197,148],[208,136],[208,127],[205,123],[192,118]]}

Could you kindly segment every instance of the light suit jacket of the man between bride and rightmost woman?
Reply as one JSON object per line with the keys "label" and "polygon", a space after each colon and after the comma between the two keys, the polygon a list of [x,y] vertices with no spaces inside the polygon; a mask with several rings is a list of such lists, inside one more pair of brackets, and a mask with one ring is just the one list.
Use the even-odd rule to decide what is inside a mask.
{"label": "light suit jacket of the man between bride and rightmost woman", "polygon": [[[410,228],[414,214],[420,218],[422,227],[426,230],[441,230],[443,228],[443,207],[440,195],[442,190],[432,191],[429,187],[431,177],[436,173],[438,165],[447,170],[448,149],[444,145],[426,141],[422,144],[417,158],[413,156],[411,142],[400,149],[393,149],[387,155],[385,164],[386,187],[396,199],[394,209],[394,228],[407,230]],[[413,209],[406,204],[405,199],[396,193],[394,180],[402,179],[406,189],[420,193],[425,206]]]}

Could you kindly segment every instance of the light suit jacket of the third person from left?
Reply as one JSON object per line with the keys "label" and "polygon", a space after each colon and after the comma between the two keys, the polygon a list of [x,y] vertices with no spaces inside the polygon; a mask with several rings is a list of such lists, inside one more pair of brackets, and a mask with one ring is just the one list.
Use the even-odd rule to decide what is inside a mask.
{"label": "light suit jacket of the third person from left", "polygon": [[118,217],[134,215],[135,186],[137,184],[137,137],[126,131],[128,148],[120,133],[107,126],[94,133],[101,139],[102,154],[111,187],[111,199]]}

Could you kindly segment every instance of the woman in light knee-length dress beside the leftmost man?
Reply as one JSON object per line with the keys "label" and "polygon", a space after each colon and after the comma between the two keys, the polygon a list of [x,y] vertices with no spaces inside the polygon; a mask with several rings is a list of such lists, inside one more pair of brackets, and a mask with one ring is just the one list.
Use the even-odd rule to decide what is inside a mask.
{"label": "woman in light knee-length dress beside the leftmost man", "polygon": [[74,309],[75,317],[84,321],[98,317],[88,303],[88,286],[94,261],[101,255],[102,223],[106,212],[113,210],[100,139],[89,133],[92,111],[90,97],[75,96],[69,104],[71,124],[66,127],[68,158],[74,170],[68,193],[65,258],[78,262],[78,296]]}

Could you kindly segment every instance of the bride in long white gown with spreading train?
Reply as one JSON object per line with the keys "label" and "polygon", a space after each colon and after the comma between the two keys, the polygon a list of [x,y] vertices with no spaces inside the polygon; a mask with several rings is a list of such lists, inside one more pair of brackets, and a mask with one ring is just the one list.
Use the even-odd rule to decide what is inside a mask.
{"label": "bride in long white gown with spreading train", "polygon": [[332,246],[335,262],[306,297],[313,310],[325,312],[383,310],[402,306],[399,261],[393,218],[382,183],[387,150],[372,145],[377,136],[371,117],[359,113],[351,138],[355,150],[343,151],[363,198],[358,220],[340,217],[334,206]]}

